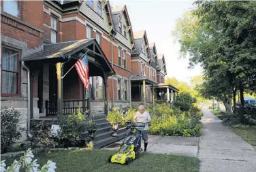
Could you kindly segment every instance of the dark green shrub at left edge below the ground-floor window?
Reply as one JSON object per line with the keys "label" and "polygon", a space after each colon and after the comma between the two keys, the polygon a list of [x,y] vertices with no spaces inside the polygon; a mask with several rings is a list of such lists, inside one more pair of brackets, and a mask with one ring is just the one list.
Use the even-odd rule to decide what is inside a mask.
{"label": "dark green shrub at left edge below the ground-floor window", "polygon": [[18,131],[20,112],[15,109],[1,108],[1,153],[12,148],[15,140],[21,137]]}

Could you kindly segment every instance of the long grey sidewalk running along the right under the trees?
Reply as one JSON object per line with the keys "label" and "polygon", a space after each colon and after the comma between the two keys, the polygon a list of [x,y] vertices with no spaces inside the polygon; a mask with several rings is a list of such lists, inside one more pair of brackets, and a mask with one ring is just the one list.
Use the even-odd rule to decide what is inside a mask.
{"label": "long grey sidewalk running along the right under the trees", "polygon": [[200,171],[255,172],[256,151],[203,108],[204,130],[199,138]]}

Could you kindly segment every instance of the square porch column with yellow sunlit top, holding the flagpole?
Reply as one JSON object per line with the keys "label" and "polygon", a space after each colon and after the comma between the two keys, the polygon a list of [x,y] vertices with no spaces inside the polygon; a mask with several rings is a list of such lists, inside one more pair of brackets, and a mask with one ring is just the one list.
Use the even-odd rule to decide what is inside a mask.
{"label": "square porch column with yellow sunlit top, holding the flagpole", "polygon": [[57,114],[63,114],[63,79],[61,79],[63,75],[63,64],[61,62],[55,64],[56,72],[57,72]]}

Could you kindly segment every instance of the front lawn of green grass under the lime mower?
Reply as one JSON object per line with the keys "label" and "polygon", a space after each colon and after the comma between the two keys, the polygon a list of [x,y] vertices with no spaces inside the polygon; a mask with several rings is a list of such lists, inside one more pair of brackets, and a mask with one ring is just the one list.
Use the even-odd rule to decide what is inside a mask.
{"label": "front lawn of green grass under the lime mower", "polygon": [[[138,160],[133,161],[127,166],[108,163],[108,156],[114,153],[110,150],[74,150],[68,152],[51,152],[47,156],[38,154],[35,158],[38,159],[40,167],[48,159],[53,160],[57,163],[57,171],[199,171],[199,160],[194,157],[167,154],[142,154]],[[7,165],[10,162],[11,160],[6,160]]]}

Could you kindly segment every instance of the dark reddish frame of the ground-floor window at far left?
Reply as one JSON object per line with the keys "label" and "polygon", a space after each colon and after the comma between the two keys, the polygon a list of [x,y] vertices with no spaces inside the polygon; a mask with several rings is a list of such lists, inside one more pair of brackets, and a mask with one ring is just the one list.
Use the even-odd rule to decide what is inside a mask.
{"label": "dark reddish frame of the ground-floor window at far left", "polygon": [[[17,90],[16,90],[16,93],[2,93],[2,89],[1,89],[1,97],[13,97],[13,98],[17,98],[19,97],[20,95],[20,77],[21,77],[21,71],[20,71],[20,58],[21,58],[21,50],[20,49],[16,49],[14,47],[10,47],[10,46],[7,46],[7,45],[2,45],[1,46],[1,76],[2,76],[2,71],[7,71],[8,70],[3,70],[2,68],[2,65],[3,65],[3,48],[6,48],[6,49],[12,49],[14,51],[18,51],[18,72],[15,72],[18,74],[18,77],[17,77],[17,82],[16,85],[17,85]],[[13,72],[13,71],[9,71],[9,72]],[[1,77],[2,79],[2,77]],[[1,80],[1,83],[2,83],[2,80]],[[30,91],[30,90],[29,90]]]}

